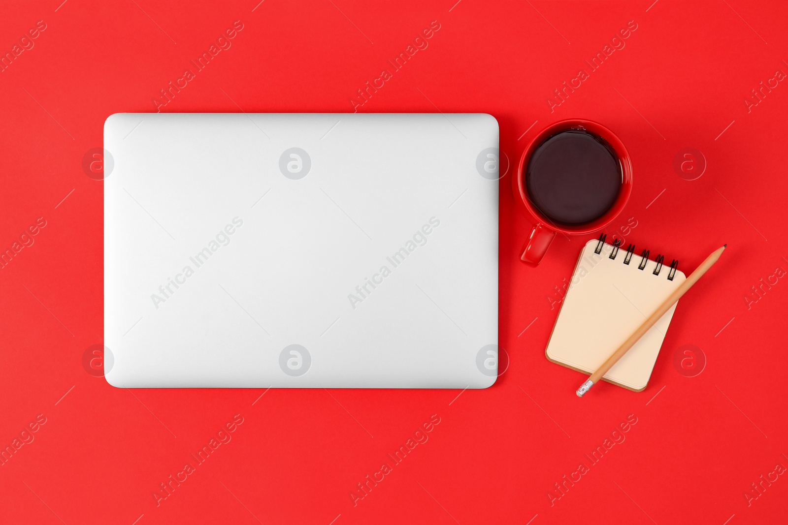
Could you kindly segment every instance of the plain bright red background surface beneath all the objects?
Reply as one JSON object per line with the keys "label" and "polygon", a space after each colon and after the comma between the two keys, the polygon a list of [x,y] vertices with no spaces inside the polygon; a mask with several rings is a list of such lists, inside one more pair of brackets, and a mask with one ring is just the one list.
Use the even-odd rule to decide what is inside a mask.
{"label": "plain bright red background surface beneath all the objects", "polygon": [[[0,270],[0,446],[37,415],[46,423],[0,467],[3,523],[785,520],[788,475],[749,505],[745,490],[788,467],[788,283],[745,295],[788,270],[788,83],[749,112],[744,101],[788,72],[786,2],[257,1],[4,2],[3,53],[38,20],[46,30],[0,73],[0,248],[40,216],[46,227]],[[85,350],[102,341],[102,183],[82,158],[102,146],[107,116],[154,110],[158,91],[235,20],[232,47],[163,111],[351,111],[356,90],[437,20],[429,47],[360,111],[492,113],[512,163],[556,120],[619,135],[634,190],[608,236],[634,217],[626,242],[685,272],[729,246],[679,303],[649,387],[601,384],[580,400],[582,375],[545,359],[550,297],[592,236],[559,235],[538,268],[519,263],[533,220],[512,198],[511,172],[500,183],[500,346],[511,364],[488,390],[260,397],[116,389],[88,374]],[[551,113],[553,90],[630,20],[626,47]],[[686,147],[708,162],[699,179],[673,168]],[[673,364],[686,344],[707,360],[695,377]],[[232,441],[157,506],[159,484],[236,414]],[[354,506],[356,484],[433,414],[429,441]],[[553,484],[630,414],[626,441],[551,505]]]}

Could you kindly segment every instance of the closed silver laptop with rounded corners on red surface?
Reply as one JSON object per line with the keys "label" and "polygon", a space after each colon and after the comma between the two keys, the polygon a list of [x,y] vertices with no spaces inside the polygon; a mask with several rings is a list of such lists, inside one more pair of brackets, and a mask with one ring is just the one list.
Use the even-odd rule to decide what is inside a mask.
{"label": "closed silver laptop with rounded corners on red surface", "polygon": [[118,113],[104,143],[114,386],[494,383],[492,116]]}

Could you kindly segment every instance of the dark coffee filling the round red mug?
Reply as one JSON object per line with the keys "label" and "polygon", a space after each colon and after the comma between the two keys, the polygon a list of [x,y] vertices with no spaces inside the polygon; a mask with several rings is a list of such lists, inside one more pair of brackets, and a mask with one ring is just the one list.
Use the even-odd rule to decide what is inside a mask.
{"label": "dark coffee filling the round red mug", "polygon": [[601,137],[560,131],[533,150],[525,172],[531,204],[556,224],[587,224],[619,198],[621,162]]}

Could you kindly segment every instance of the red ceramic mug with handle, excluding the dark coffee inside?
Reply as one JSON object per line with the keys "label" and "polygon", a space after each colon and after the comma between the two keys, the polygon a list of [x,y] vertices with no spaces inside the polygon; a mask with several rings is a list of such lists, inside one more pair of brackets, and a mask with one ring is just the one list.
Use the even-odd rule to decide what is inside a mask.
{"label": "red ceramic mug with handle, excluding the dark coffee inside", "polygon": [[[615,199],[613,205],[598,219],[585,224],[558,224],[550,220],[539,210],[533,202],[531,202],[525,182],[525,170],[530,161],[531,154],[541,145],[545,139],[548,139],[556,133],[567,130],[582,130],[593,133],[608,142],[612,150],[615,152],[615,157],[619,161],[621,168],[621,190],[619,190],[619,197]],[[545,257],[547,249],[550,247],[552,239],[556,237],[559,231],[566,235],[585,235],[598,231],[607,226],[615,216],[619,215],[629,200],[632,193],[632,162],[630,161],[630,154],[626,152],[626,148],[618,137],[613,135],[613,132],[605,128],[602,124],[597,124],[591,120],[562,120],[556,122],[545,128],[537,136],[535,136],[526,147],[526,150],[520,157],[520,163],[512,179],[512,187],[516,197],[519,196],[519,201],[525,206],[526,211],[536,217],[537,224],[533,227],[531,235],[523,246],[522,255],[520,260],[533,264],[539,264],[542,257]]]}

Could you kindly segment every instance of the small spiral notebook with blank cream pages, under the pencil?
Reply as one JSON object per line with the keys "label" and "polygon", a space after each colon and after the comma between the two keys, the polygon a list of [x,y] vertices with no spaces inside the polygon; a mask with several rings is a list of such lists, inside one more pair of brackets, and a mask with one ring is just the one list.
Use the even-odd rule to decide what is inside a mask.
{"label": "small spiral notebook with blank cream pages, under the pencil", "polygon": [[[651,260],[649,250],[643,250],[637,256],[634,245],[621,250],[619,239],[608,244],[605,237],[586,242],[581,250],[545,350],[548,360],[585,374],[596,371],[686,279],[678,261],[668,267],[662,255]],[[675,309],[673,305],[603,379],[644,390]]]}

